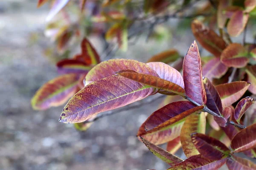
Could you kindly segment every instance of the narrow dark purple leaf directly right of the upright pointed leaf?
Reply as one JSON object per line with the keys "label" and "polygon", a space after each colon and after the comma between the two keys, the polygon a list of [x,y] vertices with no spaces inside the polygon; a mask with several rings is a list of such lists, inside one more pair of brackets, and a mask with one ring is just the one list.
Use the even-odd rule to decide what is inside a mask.
{"label": "narrow dark purple leaf directly right of the upright pointed leaf", "polygon": [[221,97],[218,94],[216,88],[214,85],[212,85],[212,82],[209,81],[209,79],[204,78],[204,88],[206,91],[207,96],[207,107],[217,113],[218,115],[221,115],[222,113],[222,103],[221,103]]}

